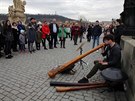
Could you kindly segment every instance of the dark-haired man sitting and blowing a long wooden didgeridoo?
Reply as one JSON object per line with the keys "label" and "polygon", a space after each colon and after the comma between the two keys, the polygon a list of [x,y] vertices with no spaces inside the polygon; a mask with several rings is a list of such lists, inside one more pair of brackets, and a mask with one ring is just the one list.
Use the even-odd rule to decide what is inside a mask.
{"label": "dark-haired man sitting and blowing a long wooden didgeridoo", "polygon": [[120,46],[115,43],[114,36],[112,34],[106,35],[103,38],[103,42],[106,44],[105,47],[102,48],[102,55],[106,56],[104,60],[96,60],[94,61],[94,67],[88,73],[86,77],[83,77],[78,81],[78,83],[88,83],[89,78],[94,76],[98,70],[104,70],[106,68],[120,68],[121,64],[121,49]]}

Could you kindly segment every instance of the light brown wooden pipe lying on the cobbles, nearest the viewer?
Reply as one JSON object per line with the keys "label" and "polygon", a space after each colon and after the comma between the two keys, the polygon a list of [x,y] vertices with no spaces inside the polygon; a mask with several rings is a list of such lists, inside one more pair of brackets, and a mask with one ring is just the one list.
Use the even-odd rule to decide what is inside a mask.
{"label": "light brown wooden pipe lying on the cobbles, nearest the viewer", "polygon": [[108,87],[108,85],[107,84],[100,84],[100,85],[79,86],[79,87],[56,87],[56,91],[57,92],[67,92],[67,91],[94,89],[94,88],[102,88],[102,87]]}

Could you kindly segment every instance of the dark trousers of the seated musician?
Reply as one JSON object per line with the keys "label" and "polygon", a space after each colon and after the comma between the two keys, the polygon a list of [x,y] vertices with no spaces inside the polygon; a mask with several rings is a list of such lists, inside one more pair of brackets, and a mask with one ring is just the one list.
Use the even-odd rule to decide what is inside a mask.
{"label": "dark trousers of the seated musician", "polygon": [[108,66],[102,65],[98,61],[94,61],[94,64],[95,64],[94,67],[92,68],[92,70],[86,76],[87,78],[91,78],[92,76],[94,76],[97,73],[98,70],[102,71],[102,70],[108,68]]}

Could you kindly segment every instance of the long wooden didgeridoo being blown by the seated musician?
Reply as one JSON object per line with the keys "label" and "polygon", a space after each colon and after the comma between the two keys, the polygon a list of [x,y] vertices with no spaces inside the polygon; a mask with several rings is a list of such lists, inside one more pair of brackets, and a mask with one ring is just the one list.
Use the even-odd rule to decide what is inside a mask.
{"label": "long wooden didgeridoo being blown by the seated musician", "polygon": [[96,51],[96,50],[98,50],[98,49],[100,49],[100,48],[102,48],[102,47],[104,47],[104,46],[105,46],[105,43],[102,43],[102,44],[98,45],[97,47],[95,47],[95,48],[89,50],[88,52],[86,52],[86,53],[84,53],[84,54],[82,54],[82,55],[79,55],[79,56],[77,56],[76,58],[74,58],[74,59],[72,59],[72,60],[66,62],[65,64],[63,64],[63,65],[61,65],[61,66],[59,66],[59,67],[57,67],[57,68],[54,68],[54,69],[50,70],[50,71],[48,72],[48,76],[49,76],[50,78],[54,78],[58,73],[60,73],[60,72],[62,72],[62,71],[64,71],[64,70],[66,70],[67,68],[70,68],[71,65],[75,64],[76,62],[78,62],[78,61],[81,60],[82,58],[86,57],[87,55],[93,53],[94,51]]}

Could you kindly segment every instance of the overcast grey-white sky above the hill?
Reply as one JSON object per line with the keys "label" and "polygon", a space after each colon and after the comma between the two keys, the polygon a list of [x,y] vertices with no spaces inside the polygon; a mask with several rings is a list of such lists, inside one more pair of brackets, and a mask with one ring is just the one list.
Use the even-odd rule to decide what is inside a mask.
{"label": "overcast grey-white sky above the hill", "polygon": [[[0,13],[7,13],[13,0],[0,0]],[[119,18],[124,0],[26,0],[25,13],[58,14],[79,19],[84,16],[90,21],[107,21]]]}

